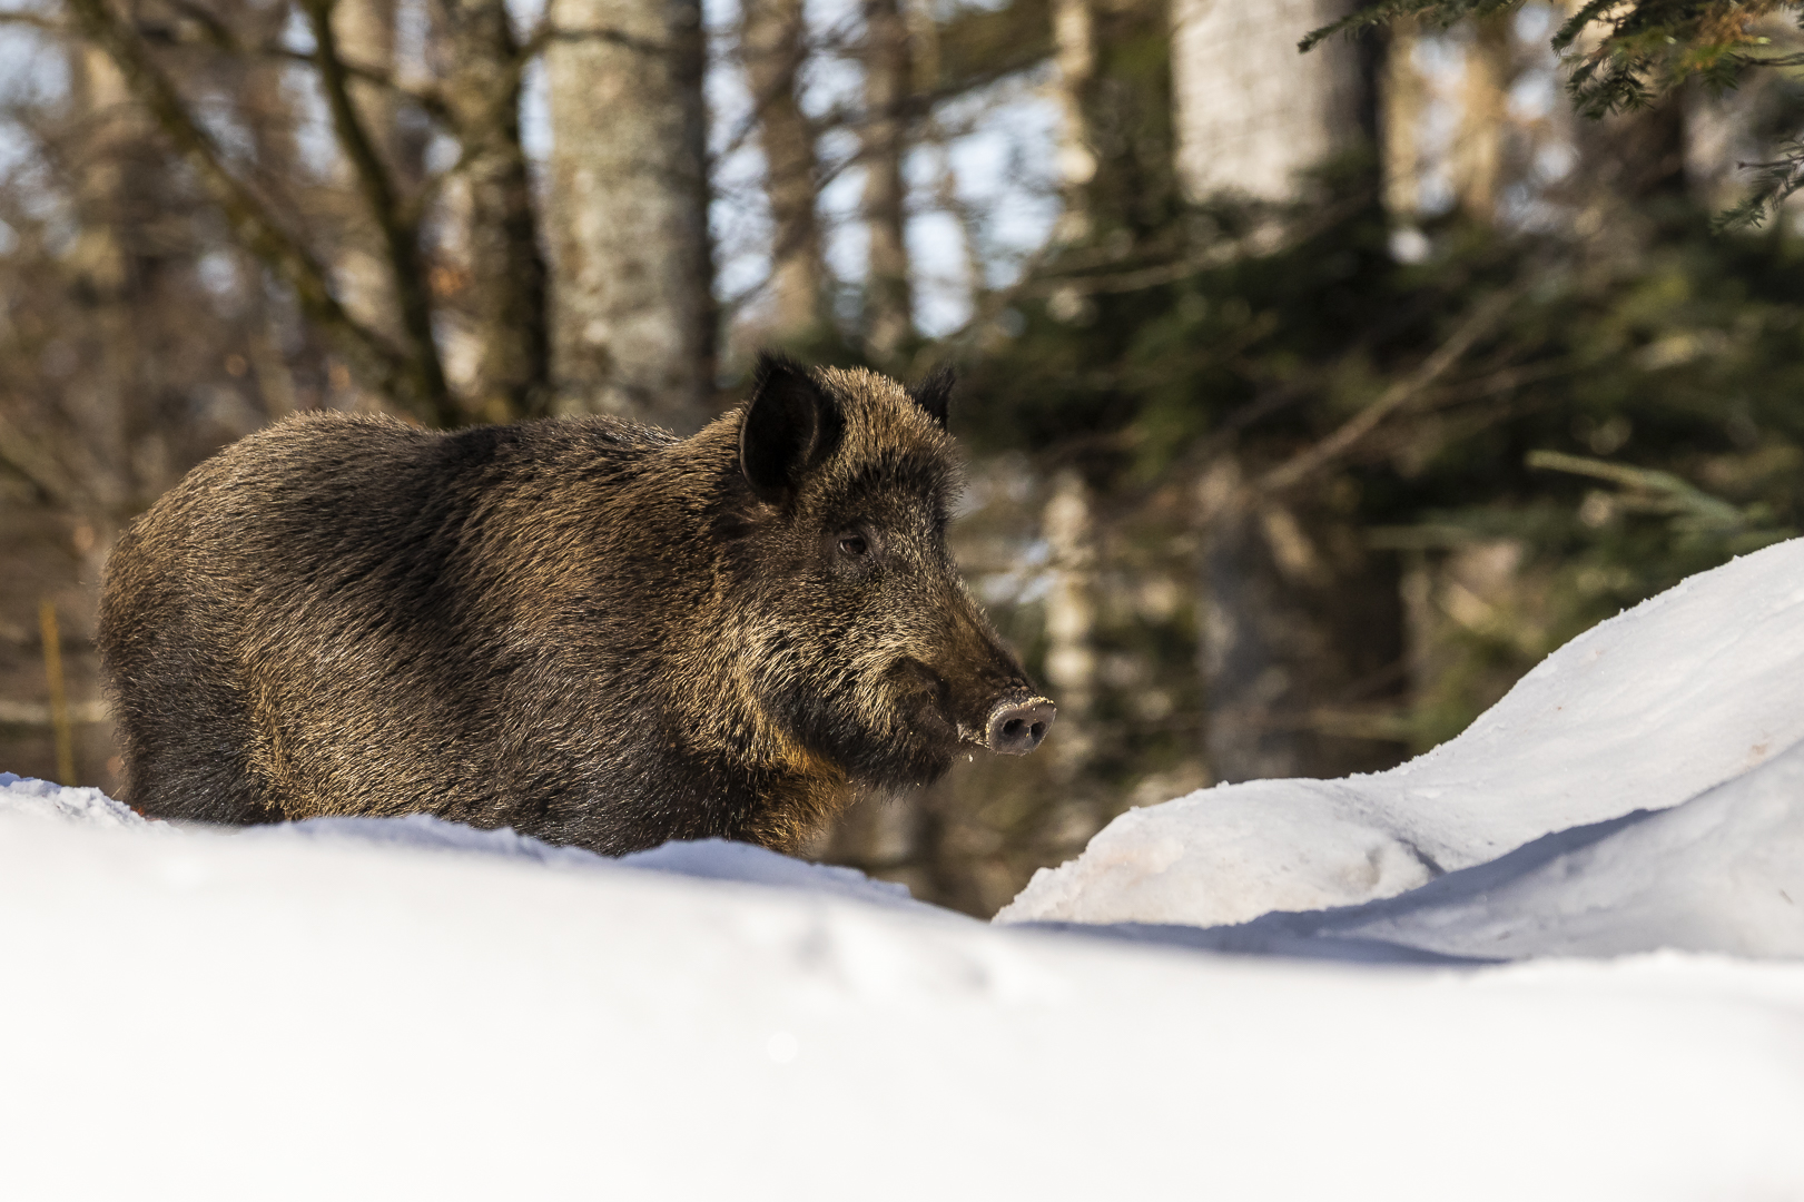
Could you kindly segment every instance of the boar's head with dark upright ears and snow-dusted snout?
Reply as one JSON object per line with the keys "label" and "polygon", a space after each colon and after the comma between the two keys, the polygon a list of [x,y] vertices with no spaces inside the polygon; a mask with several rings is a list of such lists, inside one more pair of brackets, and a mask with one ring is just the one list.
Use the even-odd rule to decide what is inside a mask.
{"label": "boar's head with dark upright ears and snow-dusted snout", "polygon": [[1026,754],[1055,713],[945,547],[951,386],[765,357],[741,411],[754,688],[788,738],[880,787],[936,780],[960,745]]}

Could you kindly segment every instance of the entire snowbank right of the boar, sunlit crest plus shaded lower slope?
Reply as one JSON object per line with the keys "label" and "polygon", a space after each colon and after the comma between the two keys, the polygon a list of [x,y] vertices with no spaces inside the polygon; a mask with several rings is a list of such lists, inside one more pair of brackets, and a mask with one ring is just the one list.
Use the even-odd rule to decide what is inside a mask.
{"label": "entire snowbank right of the boar, sunlit crest plus shaded lower slope", "polygon": [[[1793,540],[1573,639],[1463,735],[1389,772],[1221,785],[1122,814],[1079,859],[1035,874],[998,920],[1218,928],[1360,906],[1434,881],[1404,906],[1286,929],[1384,933],[1474,955],[1658,946],[1804,955],[1804,910],[1791,904],[1804,902],[1804,796],[1797,760],[1782,756],[1800,738],[1804,541]],[[1687,812],[1573,830],[1672,807]],[[1555,837],[1494,872],[1456,872],[1546,836]],[[1505,915],[1501,895],[1490,917],[1474,910],[1499,888],[1497,874],[1530,866],[1535,881],[1568,881],[1564,933],[1551,913],[1532,924],[1524,911]],[[1436,881],[1441,874],[1450,875]],[[1510,906],[1530,892],[1553,904],[1526,877],[1514,888]],[[1620,910],[1631,897],[1651,906],[1636,902],[1638,935]],[[1692,920],[1685,904],[1712,917]]]}

